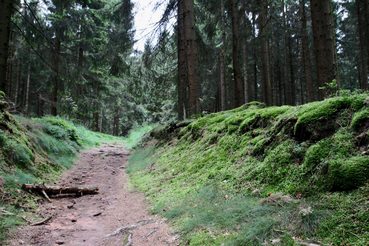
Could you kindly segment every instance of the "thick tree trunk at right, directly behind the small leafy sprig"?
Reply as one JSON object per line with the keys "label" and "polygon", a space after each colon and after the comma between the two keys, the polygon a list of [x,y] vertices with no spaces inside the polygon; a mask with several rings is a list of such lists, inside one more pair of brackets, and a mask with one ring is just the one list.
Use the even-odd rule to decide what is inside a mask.
{"label": "thick tree trunk at right, directly behind the small leafy sprig", "polygon": [[[330,0],[310,0],[318,86],[336,79],[335,33]],[[319,98],[327,96],[320,91]]]}

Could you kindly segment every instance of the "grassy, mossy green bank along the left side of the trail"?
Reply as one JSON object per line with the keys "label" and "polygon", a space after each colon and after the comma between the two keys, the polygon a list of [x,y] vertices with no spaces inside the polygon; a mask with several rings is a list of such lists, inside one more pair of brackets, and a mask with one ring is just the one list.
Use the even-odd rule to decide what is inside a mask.
{"label": "grassy, mossy green bank along the left side of the trail", "polygon": [[23,183],[52,183],[70,168],[77,153],[122,138],[95,133],[56,117],[29,119],[6,110],[0,94],[0,242],[9,229],[25,221],[37,199],[20,189]]}

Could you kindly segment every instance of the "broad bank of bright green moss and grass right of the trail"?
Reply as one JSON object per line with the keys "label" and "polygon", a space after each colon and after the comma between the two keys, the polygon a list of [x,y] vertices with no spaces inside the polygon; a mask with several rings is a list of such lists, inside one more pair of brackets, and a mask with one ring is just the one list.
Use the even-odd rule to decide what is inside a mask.
{"label": "broad bank of bright green moss and grass right of the trail", "polygon": [[189,245],[367,245],[369,96],[154,130],[128,172]]}

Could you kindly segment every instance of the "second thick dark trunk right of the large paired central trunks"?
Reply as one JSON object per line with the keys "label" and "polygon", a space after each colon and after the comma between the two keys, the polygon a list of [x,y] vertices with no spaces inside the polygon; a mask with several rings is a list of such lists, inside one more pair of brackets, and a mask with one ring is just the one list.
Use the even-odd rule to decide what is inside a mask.
{"label": "second thick dark trunk right of the large paired central trunks", "polygon": [[259,16],[259,29],[260,29],[260,45],[261,45],[261,60],[262,60],[262,93],[263,101],[267,105],[272,104],[272,81],[270,77],[270,57],[269,57],[269,44],[268,44],[268,1],[260,1],[260,16]]}

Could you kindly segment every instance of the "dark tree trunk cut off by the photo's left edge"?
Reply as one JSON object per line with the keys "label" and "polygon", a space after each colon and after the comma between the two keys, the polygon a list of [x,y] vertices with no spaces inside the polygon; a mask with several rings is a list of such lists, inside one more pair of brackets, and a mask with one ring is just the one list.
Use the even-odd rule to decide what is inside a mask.
{"label": "dark tree trunk cut off by the photo's left edge", "polygon": [[0,0],[0,90],[6,92],[12,0]]}

